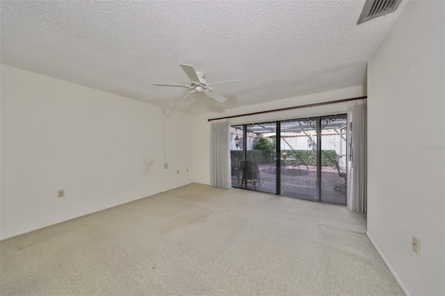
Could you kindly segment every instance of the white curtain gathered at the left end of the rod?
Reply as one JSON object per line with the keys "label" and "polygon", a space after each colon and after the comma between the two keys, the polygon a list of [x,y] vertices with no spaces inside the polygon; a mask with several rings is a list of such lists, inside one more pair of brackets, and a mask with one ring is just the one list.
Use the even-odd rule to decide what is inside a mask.
{"label": "white curtain gathered at the left end of the rod", "polygon": [[229,189],[232,187],[229,121],[212,122],[210,138],[210,186]]}

